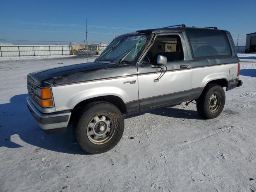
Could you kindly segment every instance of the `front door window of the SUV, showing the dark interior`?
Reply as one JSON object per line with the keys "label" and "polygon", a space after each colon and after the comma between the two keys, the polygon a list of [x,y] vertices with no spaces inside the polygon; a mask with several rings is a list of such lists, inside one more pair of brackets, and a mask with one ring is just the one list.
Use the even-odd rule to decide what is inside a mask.
{"label": "front door window of the SUV, showing the dark interior", "polygon": [[157,56],[167,58],[167,62],[184,59],[180,38],[178,36],[158,36],[143,59],[143,63],[156,63]]}

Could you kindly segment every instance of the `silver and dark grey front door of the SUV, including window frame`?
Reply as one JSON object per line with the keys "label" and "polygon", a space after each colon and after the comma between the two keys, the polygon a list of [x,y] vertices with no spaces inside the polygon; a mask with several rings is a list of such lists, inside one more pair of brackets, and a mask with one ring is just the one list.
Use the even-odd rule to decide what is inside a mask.
{"label": "silver and dark grey front door of the SUV, including window frame", "polygon": [[[158,106],[169,106],[188,101],[191,98],[192,69],[188,59],[188,50],[182,33],[159,35],[154,44],[138,63],[138,90],[140,110]],[[156,65],[156,57],[168,58],[167,70],[159,79],[160,68]],[[165,68],[164,68],[165,70]]]}

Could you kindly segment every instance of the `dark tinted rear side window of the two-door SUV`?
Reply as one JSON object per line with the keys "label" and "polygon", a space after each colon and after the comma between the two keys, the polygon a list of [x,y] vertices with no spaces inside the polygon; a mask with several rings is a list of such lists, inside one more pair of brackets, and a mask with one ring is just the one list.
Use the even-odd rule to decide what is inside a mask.
{"label": "dark tinted rear side window of the two-door SUV", "polygon": [[228,38],[223,31],[187,29],[194,58],[231,55]]}

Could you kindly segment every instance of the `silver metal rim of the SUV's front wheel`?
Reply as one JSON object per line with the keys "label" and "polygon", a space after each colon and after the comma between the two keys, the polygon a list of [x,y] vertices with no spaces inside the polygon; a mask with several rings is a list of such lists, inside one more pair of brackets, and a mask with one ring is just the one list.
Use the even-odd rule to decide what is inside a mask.
{"label": "silver metal rim of the SUV's front wheel", "polygon": [[94,116],[86,129],[89,140],[94,144],[104,144],[108,142],[114,133],[113,122],[107,114]]}

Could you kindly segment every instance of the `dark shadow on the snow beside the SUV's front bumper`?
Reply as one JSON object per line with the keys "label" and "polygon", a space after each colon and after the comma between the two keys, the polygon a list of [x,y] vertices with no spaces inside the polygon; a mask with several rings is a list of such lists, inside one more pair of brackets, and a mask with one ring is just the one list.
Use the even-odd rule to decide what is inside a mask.
{"label": "dark shadow on the snow beside the SUV's front bumper", "polygon": [[[74,143],[71,127],[68,127],[65,134],[45,134],[27,108],[27,96],[28,94],[16,95],[10,99],[10,103],[0,104],[0,147],[23,147],[22,142],[17,139],[12,141],[11,137],[18,134],[22,141],[36,148],[68,154],[86,154]],[[35,150],[40,150],[36,148]]]}

